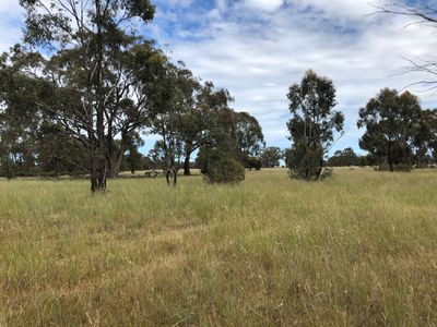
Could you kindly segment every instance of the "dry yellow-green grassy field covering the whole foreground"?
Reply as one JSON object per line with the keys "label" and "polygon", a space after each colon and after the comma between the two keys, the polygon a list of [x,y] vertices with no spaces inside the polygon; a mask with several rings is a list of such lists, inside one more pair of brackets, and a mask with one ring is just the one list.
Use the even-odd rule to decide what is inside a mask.
{"label": "dry yellow-green grassy field covering the whole foreground", "polygon": [[0,326],[436,326],[437,170],[0,181]]}

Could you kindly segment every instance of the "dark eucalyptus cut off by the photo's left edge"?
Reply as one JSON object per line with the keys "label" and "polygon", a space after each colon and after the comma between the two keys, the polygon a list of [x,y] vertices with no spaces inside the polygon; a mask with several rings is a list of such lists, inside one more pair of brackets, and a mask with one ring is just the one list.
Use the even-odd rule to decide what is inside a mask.
{"label": "dark eucalyptus cut off by the photo's left edge", "polygon": [[35,170],[40,116],[35,101],[47,83],[34,77],[42,57],[14,46],[0,57],[0,155],[20,173]]}

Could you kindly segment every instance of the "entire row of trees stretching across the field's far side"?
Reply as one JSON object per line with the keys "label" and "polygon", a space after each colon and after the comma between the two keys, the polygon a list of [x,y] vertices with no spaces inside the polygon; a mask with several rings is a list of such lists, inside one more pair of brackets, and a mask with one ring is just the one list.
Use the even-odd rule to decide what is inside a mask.
{"label": "entire row of trees stretching across the field's far side", "polygon": [[[394,171],[436,159],[437,111],[409,92],[382,89],[359,110],[365,133],[352,149],[327,154],[344,134],[332,81],[308,71],[287,94],[291,148],[265,147],[262,129],[232,109],[225,88],[193,76],[138,31],[149,0],[21,0],[24,44],[0,57],[1,173],[88,174],[92,192],[120,169],[162,169],[176,185],[194,165],[211,182],[234,182],[245,168],[277,167],[319,180],[327,166],[378,165]],[[160,138],[147,156],[149,134]],[[193,164],[193,155],[197,155]],[[355,156],[354,156],[355,155]]]}

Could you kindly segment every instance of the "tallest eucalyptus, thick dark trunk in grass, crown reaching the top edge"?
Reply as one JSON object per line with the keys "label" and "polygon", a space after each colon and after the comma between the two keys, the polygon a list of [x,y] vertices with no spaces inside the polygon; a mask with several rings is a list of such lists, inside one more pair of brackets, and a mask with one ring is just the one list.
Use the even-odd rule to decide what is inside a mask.
{"label": "tallest eucalyptus, thick dark trunk in grass, crown reaching the top edge", "polygon": [[90,157],[91,190],[106,189],[116,136],[146,123],[144,74],[158,62],[153,45],[135,36],[149,23],[149,0],[20,0],[25,40],[50,53],[43,77],[51,96],[37,106],[81,142]]}

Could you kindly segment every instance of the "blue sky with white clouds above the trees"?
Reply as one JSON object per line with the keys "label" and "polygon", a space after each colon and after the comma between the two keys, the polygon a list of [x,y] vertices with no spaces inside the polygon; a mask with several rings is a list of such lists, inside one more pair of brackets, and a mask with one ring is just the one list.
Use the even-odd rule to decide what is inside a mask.
{"label": "blue sky with white clouds above the trees", "polygon": [[[373,15],[382,0],[155,0],[153,23],[140,31],[193,74],[227,88],[232,107],[260,122],[268,146],[290,147],[286,94],[309,69],[336,87],[345,134],[331,153],[359,152],[358,110],[383,87],[409,89],[425,108],[437,95],[405,74],[408,59],[433,59],[436,29],[402,16]],[[19,0],[0,0],[0,51],[21,40]]]}

